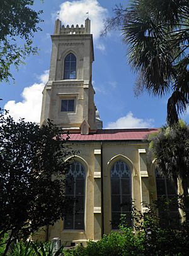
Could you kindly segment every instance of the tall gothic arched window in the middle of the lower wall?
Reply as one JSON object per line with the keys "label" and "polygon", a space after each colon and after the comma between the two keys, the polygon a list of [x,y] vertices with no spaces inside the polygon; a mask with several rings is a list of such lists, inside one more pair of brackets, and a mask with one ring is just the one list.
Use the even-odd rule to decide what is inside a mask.
{"label": "tall gothic arched window in the middle of the lower wall", "polygon": [[121,214],[131,226],[132,188],[131,171],[123,161],[117,161],[111,169],[112,229],[120,224]]}

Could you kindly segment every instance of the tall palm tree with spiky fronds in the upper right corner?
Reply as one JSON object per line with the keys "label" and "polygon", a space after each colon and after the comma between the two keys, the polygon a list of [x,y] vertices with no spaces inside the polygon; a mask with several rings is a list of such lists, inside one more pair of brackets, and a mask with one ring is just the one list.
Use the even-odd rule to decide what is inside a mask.
{"label": "tall palm tree with spiky fronds in the upper right corner", "polygon": [[117,6],[105,22],[105,32],[122,30],[128,59],[137,71],[137,92],[171,94],[167,104],[169,125],[178,123],[189,104],[189,2],[188,0],[132,0],[129,8]]}

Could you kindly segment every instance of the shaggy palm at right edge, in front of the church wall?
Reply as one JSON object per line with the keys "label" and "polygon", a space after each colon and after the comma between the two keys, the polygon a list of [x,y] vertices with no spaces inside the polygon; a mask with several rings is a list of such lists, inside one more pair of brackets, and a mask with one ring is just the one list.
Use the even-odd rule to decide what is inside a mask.
{"label": "shaggy palm at right edge, in front of the church wall", "polygon": [[[185,205],[189,188],[189,126],[179,121],[175,127],[164,126],[149,137],[149,150],[157,169],[172,180],[181,180]],[[189,220],[188,210],[186,217]]]}

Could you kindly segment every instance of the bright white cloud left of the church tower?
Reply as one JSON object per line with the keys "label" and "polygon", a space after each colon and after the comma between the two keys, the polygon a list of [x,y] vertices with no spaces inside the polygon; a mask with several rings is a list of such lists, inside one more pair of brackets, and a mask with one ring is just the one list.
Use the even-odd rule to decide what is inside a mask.
{"label": "bright white cloud left of the church tower", "polygon": [[25,118],[25,121],[40,122],[40,114],[42,109],[42,91],[49,78],[49,70],[38,76],[40,83],[34,83],[30,87],[25,87],[21,97],[23,101],[8,101],[4,105],[4,109],[18,121],[19,118]]}

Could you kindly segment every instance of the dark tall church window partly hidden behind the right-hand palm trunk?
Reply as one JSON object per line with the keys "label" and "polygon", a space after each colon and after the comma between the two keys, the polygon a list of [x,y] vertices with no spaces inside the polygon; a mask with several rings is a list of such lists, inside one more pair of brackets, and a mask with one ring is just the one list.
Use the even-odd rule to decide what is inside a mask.
{"label": "dark tall church window partly hidden behind the right-hand palm trunk", "polygon": [[171,204],[167,205],[167,208],[160,207],[159,217],[161,224],[167,226],[168,224],[179,224],[180,214],[178,211],[178,204],[176,196],[178,195],[176,183],[163,174],[160,174],[156,169],[156,189],[157,189],[157,201],[171,200]]}

